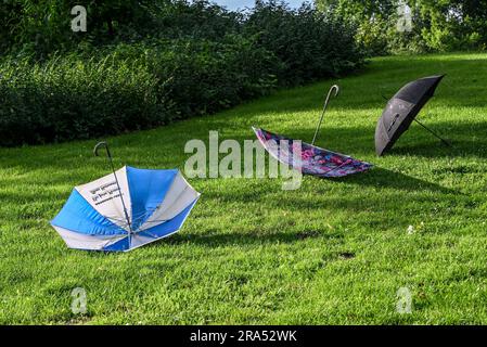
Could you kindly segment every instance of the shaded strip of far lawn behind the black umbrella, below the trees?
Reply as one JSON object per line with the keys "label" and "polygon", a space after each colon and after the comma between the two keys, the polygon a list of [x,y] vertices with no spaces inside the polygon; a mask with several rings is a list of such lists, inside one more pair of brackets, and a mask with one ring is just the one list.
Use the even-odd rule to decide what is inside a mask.
{"label": "shaded strip of far lawn behind the black umbrella, below the trees", "polygon": [[[384,97],[389,99],[409,81],[437,74],[446,74],[446,78],[438,86],[434,100],[448,106],[484,106],[485,83],[471,72],[477,70],[485,62],[482,59],[435,60],[424,56],[411,56],[408,63],[393,60],[374,62],[359,75],[278,92],[261,99],[258,110],[254,110],[252,103],[236,110],[240,112],[247,108],[249,116],[275,111],[290,113],[316,110],[318,116],[324,95],[334,83],[339,85],[342,90],[341,97],[333,100],[331,108],[350,112],[382,110],[386,104]],[[367,82],[363,82],[364,80]]]}

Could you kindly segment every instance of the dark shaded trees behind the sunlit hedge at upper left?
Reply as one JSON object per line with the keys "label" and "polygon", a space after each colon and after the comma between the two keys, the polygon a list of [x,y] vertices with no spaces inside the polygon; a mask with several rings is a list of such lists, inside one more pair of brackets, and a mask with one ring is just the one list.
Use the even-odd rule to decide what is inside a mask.
{"label": "dark shaded trees behind the sunlit hedge at upper left", "polygon": [[[77,4],[87,10],[87,33],[71,29]],[[0,49],[46,59],[86,43],[133,43],[148,37],[219,40],[235,34],[241,18],[207,0],[2,0]]]}

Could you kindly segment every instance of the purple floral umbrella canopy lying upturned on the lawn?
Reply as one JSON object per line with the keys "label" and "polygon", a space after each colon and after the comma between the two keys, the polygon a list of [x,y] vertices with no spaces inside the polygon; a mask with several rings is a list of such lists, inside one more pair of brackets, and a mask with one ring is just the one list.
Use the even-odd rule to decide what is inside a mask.
{"label": "purple floral umbrella canopy lying upturned on the lawn", "polygon": [[[275,134],[264,129],[253,128],[262,146],[279,162],[299,169],[305,175],[319,177],[343,177],[362,172],[373,165],[360,162],[348,155],[323,150],[302,142],[296,146],[294,140]],[[285,147],[283,147],[285,145]],[[296,151],[300,155],[296,155]]]}

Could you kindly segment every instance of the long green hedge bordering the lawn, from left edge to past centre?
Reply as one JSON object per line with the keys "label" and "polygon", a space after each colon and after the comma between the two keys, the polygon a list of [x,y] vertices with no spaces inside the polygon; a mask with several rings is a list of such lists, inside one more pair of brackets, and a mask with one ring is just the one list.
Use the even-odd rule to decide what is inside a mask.
{"label": "long green hedge bordering the lawn, from left edge to past centre", "polygon": [[[148,25],[170,27],[161,29],[166,35],[143,36],[143,26],[139,40],[124,34],[69,49],[46,41],[12,46],[0,57],[0,145],[153,128],[363,63],[354,28],[309,7],[260,3],[243,16],[197,1],[157,13]],[[50,52],[52,44],[60,50]]]}

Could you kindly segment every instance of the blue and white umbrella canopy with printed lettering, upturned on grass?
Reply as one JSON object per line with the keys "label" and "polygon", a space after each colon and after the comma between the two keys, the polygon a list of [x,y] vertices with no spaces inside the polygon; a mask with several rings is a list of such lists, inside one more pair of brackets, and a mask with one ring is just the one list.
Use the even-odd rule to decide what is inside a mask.
{"label": "blue and white umbrella canopy with printed lettering, upturned on grass", "polygon": [[71,248],[126,252],[179,231],[198,197],[177,169],[124,166],[75,187],[51,224]]}

